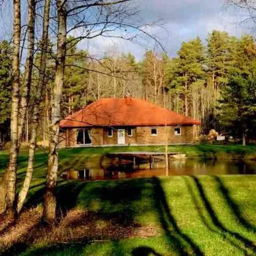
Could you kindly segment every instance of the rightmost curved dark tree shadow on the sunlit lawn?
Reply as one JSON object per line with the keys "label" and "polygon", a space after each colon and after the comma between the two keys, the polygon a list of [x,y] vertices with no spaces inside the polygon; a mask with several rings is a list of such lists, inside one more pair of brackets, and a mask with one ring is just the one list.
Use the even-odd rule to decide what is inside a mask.
{"label": "rightmost curved dark tree shadow on the sunlit lawn", "polygon": [[230,192],[227,189],[227,187],[224,185],[223,181],[221,180],[220,177],[218,176],[214,176],[214,179],[217,181],[219,189],[224,197],[224,199],[227,202],[227,205],[230,207],[230,209],[232,210],[233,214],[236,216],[237,220],[239,221],[239,223],[241,225],[243,225],[244,227],[247,228],[247,230],[256,231],[256,227],[253,226],[252,224],[250,224],[242,215],[239,209],[239,205],[236,204],[233,199],[230,196]]}

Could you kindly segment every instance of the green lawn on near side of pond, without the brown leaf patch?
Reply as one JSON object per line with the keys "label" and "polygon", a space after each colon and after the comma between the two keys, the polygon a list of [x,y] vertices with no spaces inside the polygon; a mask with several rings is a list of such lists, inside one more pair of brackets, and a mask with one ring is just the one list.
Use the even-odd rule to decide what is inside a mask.
{"label": "green lawn on near side of pond, without the brown leaf patch", "polygon": [[255,193],[253,175],[73,181],[58,189],[63,207],[119,217],[123,225],[154,224],[160,236],[33,244],[22,255],[255,255]]}

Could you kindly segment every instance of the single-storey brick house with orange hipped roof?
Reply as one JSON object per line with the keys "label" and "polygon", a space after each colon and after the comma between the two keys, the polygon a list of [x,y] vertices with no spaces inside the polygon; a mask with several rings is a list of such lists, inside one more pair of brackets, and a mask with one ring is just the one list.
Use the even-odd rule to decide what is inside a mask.
{"label": "single-storey brick house with orange hipped roof", "polygon": [[60,145],[189,144],[200,124],[143,99],[100,99],[61,120]]}

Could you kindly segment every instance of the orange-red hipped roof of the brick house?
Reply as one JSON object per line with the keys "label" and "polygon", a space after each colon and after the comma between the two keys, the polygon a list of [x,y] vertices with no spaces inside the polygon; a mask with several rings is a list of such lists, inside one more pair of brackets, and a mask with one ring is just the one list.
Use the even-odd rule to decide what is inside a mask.
{"label": "orange-red hipped roof of the brick house", "polygon": [[100,99],[61,120],[61,128],[84,126],[200,125],[201,122],[143,99]]}

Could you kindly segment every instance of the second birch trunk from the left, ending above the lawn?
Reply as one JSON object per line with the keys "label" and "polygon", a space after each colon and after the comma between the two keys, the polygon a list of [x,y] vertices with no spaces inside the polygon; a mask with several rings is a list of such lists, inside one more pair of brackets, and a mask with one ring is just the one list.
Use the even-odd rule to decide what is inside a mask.
{"label": "second birch trunk from the left, ending above the lawn", "polygon": [[29,103],[30,87],[32,79],[32,68],[34,61],[35,46],[35,0],[28,3],[28,49],[24,72],[24,84],[20,91],[19,127],[18,127],[18,150],[25,125],[26,110]]}

